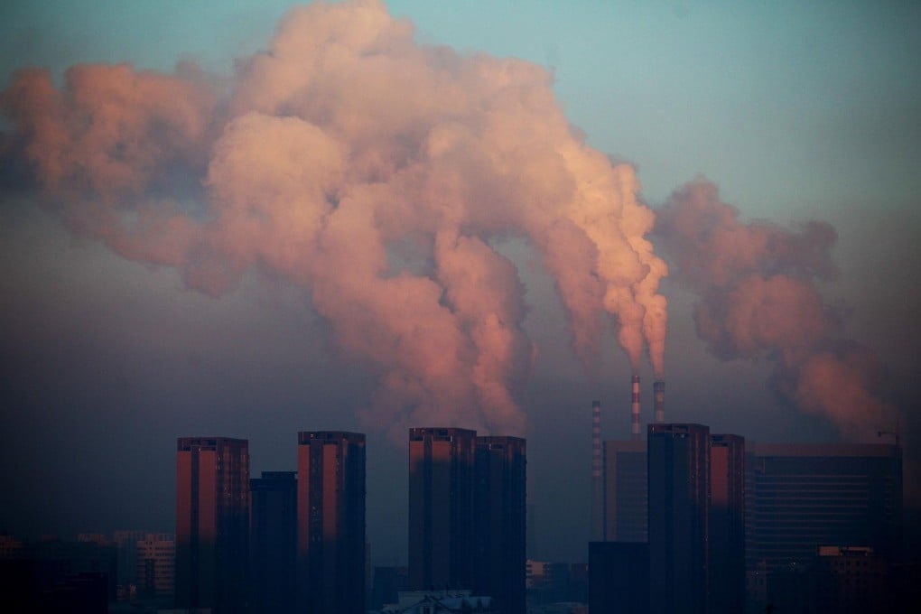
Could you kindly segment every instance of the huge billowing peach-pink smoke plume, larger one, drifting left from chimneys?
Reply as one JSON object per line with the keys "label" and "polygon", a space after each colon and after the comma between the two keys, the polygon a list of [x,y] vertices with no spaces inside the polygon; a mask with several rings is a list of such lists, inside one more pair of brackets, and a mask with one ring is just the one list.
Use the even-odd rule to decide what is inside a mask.
{"label": "huge billowing peach-pink smoke plume, larger one, drifting left from chimneys", "polygon": [[608,314],[634,367],[647,349],[661,373],[654,214],[551,85],[421,46],[368,0],[292,10],[231,79],[93,64],[58,87],[27,70],[0,110],[6,156],[76,232],[211,295],[254,271],[307,289],[336,350],[378,377],[365,422],[402,440],[407,424],[526,427],[535,349],[501,237],[539,252],[586,364]]}

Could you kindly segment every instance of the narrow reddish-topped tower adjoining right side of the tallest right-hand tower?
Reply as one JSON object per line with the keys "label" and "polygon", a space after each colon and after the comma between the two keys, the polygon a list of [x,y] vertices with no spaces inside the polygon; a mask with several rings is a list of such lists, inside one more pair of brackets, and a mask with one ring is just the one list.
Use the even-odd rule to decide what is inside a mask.
{"label": "narrow reddish-topped tower adjoining right side of the tallest right-hand tower", "polygon": [[710,437],[710,611],[745,609],[745,439]]}

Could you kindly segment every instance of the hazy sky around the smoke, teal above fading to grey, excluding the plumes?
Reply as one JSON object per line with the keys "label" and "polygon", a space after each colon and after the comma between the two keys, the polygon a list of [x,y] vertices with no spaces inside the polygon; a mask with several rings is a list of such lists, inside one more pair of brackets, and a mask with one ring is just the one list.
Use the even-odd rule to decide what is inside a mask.
{"label": "hazy sky around the smoke, teal above fading to grey, excluding the plumes", "polygon": [[[72,64],[130,63],[172,74],[178,61],[188,61],[223,91],[235,65],[244,71],[247,58],[270,48],[291,5],[7,2],[0,8],[3,87],[27,66],[49,68],[60,86]],[[836,277],[791,274],[809,276],[834,312],[835,343],[847,340],[884,365],[886,378],[874,380],[874,389],[900,412],[906,489],[921,503],[911,488],[921,446],[921,7],[495,1],[389,2],[387,9],[412,21],[416,43],[450,47],[459,65],[483,53],[549,71],[553,104],[572,133],[584,134],[591,151],[632,165],[638,197],[654,211],[687,182],[706,180],[718,187],[718,202],[738,209],[733,224],[740,227],[765,221],[771,232],[808,243],[812,235],[796,234],[801,223],[833,226],[834,245],[816,249],[834,261]],[[394,87],[407,83],[412,79]],[[404,96],[410,108],[417,95],[397,91],[388,103],[399,108]],[[290,275],[247,269],[238,287],[212,296],[184,265],[157,265],[136,252],[127,260],[111,242],[74,232],[64,223],[72,210],[60,193],[37,196],[42,180],[11,136],[17,127],[8,109],[17,103],[9,99],[0,119],[0,530],[171,530],[177,436],[248,437],[258,476],[294,469],[297,430],[363,430],[372,556],[404,561],[406,448],[388,439],[390,425],[369,429],[358,417],[379,389],[383,359],[371,350],[356,359],[355,345],[337,341],[348,331],[324,315],[320,277],[292,283]],[[512,138],[543,129],[524,128]],[[212,172],[209,185],[216,185],[221,178]],[[237,186],[233,179],[227,185]],[[690,200],[686,193],[671,198],[671,211]],[[598,375],[589,377],[569,341],[568,304],[535,239],[508,237],[502,228],[484,232],[495,253],[517,267],[523,305],[506,307],[520,311],[515,339],[535,348],[530,377],[504,382],[527,421],[537,554],[584,560],[590,402],[602,402],[606,437],[627,436],[630,363],[608,326]],[[722,332],[698,339],[699,297],[709,296],[713,312],[726,316],[713,301],[737,295],[742,285],[694,285],[694,271],[682,269],[693,258],[665,249],[664,238],[651,240],[673,272],[659,286],[669,301],[668,420],[758,441],[834,440],[834,421],[806,411],[805,392],[775,394],[777,380],[793,368],[786,353],[774,346],[747,352],[739,342],[720,350]],[[709,283],[708,271],[697,282],[704,275]],[[645,358],[640,375],[646,422],[654,375]],[[895,423],[879,428],[894,430]]]}

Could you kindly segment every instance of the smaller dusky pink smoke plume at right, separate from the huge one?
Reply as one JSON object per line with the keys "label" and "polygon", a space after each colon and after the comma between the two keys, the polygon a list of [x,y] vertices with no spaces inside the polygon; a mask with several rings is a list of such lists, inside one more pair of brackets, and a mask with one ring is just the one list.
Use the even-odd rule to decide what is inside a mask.
{"label": "smaller dusky pink smoke plume at right, separate from the huge one", "polygon": [[769,362],[779,394],[845,436],[875,440],[891,424],[879,361],[846,338],[840,314],[816,285],[836,274],[834,228],[743,224],[707,180],[675,191],[657,214],[673,276],[700,296],[694,323],[712,353]]}

